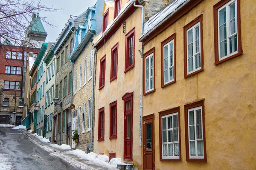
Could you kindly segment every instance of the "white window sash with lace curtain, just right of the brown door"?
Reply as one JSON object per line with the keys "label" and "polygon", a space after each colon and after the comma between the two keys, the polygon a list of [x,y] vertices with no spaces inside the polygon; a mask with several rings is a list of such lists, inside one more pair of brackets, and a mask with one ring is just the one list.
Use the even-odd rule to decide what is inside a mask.
{"label": "white window sash with lace curtain, just right of the brown door", "polygon": [[179,159],[178,113],[162,116],[162,158]]}

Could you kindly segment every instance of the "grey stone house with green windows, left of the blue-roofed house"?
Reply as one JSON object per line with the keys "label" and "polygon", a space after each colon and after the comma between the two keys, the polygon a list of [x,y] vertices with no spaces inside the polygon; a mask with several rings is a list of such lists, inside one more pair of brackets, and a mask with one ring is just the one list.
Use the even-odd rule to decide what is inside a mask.
{"label": "grey stone house with green windows, left of the blue-roofed house", "polygon": [[[71,16],[61,32],[53,48],[56,56],[55,97],[59,99],[53,114],[53,141],[58,144],[71,144],[71,104],[72,104],[72,77],[73,65],[70,62],[70,53],[73,49],[73,40],[76,29],[86,20],[86,12],[78,17]],[[62,103],[62,107],[60,104]]]}

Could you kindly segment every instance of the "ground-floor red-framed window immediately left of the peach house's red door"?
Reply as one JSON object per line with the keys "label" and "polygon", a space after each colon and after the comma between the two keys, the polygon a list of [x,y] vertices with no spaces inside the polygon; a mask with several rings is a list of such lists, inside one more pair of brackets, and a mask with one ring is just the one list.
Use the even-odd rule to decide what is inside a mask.
{"label": "ground-floor red-framed window immediately left of the peach house's red door", "polygon": [[117,130],[117,128],[116,128],[116,125],[117,125],[117,123],[116,123],[116,121],[117,121],[117,107],[116,107],[116,101],[115,102],[112,102],[111,104],[109,104],[109,108],[110,108],[110,111],[109,111],[109,113],[110,113],[110,137],[109,137],[109,139],[114,139],[114,138],[116,138],[117,136],[116,136],[116,130]]}

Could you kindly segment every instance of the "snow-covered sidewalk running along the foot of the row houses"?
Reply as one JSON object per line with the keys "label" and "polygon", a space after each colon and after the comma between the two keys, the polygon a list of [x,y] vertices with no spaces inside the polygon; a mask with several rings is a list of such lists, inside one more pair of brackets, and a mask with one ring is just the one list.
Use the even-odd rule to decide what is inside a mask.
{"label": "snow-covered sidewalk running along the foot of the row houses", "polygon": [[[82,170],[117,170],[116,164],[109,164],[107,161],[108,156],[99,155],[95,153],[86,154],[81,150],[72,150],[68,145],[54,144],[52,142],[43,142],[44,139],[38,139],[37,136],[29,131],[20,129],[32,142],[38,144],[39,147],[50,153],[50,156],[56,156]],[[105,161],[103,161],[105,160]]]}

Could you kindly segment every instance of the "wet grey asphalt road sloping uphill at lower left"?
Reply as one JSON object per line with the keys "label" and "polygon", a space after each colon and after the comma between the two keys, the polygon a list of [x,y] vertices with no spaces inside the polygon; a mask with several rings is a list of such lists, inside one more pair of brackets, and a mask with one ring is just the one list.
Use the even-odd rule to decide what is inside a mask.
{"label": "wet grey asphalt road sloping uphill at lower left", "polygon": [[22,132],[10,127],[0,127],[0,153],[9,158],[13,170],[79,170],[50,156]]}

